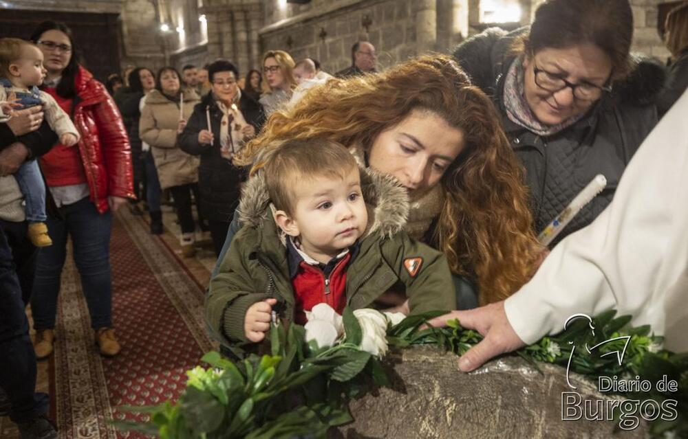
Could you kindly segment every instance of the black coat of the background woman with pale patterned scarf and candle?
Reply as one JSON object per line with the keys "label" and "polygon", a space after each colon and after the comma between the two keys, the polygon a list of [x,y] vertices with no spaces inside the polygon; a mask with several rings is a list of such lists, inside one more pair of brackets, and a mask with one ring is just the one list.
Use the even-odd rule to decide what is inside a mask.
{"label": "black coat of the background woman with pale patterned scarf and candle", "polygon": [[[198,133],[208,129],[206,109],[210,109],[211,113],[211,131],[214,137],[212,146],[198,143]],[[246,122],[254,126],[258,133],[265,122],[265,114],[260,104],[242,94],[239,110]],[[222,122],[222,110],[217,106],[213,93],[208,93],[200,104],[194,107],[186,128],[177,138],[177,143],[185,153],[201,157],[198,168],[198,187],[201,194],[201,207],[206,218],[211,221],[229,223],[239,203],[244,170],[237,168],[231,161],[220,155],[220,122]]]}

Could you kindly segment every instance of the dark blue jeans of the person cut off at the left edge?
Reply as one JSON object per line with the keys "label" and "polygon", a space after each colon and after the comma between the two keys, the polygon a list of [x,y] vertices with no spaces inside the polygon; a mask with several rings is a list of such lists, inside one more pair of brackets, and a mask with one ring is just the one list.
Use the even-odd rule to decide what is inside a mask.
{"label": "dark blue jeans of the person cut off at the left edge", "polygon": [[14,250],[25,250],[10,247],[10,241],[18,240],[12,235],[25,234],[26,223],[0,221],[0,387],[10,399],[15,423],[45,414],[49,403],[47,394],[35,392],[36,355],[14,266]]}

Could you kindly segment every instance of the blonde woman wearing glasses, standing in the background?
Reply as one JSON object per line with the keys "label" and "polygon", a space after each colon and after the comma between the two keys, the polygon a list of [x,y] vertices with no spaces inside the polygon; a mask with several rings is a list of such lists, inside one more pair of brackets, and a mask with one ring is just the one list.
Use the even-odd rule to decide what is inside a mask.
{"label": "blonde woman wearing glasses, standing in the background", "polygon": [[282,50],[270,50],[263,56],[263,95],[258,102],[266,115],[287,104],[292,90],[297,87],[294,78],[294,60]]}

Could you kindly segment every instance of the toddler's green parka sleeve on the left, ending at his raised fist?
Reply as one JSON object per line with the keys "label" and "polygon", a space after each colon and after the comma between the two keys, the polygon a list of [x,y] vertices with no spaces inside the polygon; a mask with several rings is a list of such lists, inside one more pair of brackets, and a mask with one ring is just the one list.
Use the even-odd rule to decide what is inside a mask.
{"label": "toddler's green parka sleeve on the left, ending at his raised fist", "polygon": [[233,240],[220,264],[219,273],[211,280],[205,302],[206,323],[227,345],[250,343],[244,335],[246,311],[252,304],[272,297],[260,290],[260,284],[264,282],[255,279],[248,267],[254,262],[248,258],[250,250],[242,244],[250,239],[246,236],[241,238],[248,232],[248,227],[244,227]]}

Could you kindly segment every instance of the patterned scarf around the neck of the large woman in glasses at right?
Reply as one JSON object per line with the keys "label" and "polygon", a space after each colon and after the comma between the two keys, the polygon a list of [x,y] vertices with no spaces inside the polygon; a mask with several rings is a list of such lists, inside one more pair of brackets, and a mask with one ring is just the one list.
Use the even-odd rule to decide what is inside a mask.
{"label": "patterned scarf around the neck of the large woman in glasses at right", "polygon": [[574,117],[569,117],[557,125],[541,124],[533,114],[533,111],[530,110],[528,102],[526,102],[523,85],[524,73],[523,57],[519,56],[511,63],[504,80],[504,106],[506,107],[506,115],[511,122],[537,135],[548,136],[559,133],[563,128],[575,124],[585,115],[585,113],[581,113]]}

